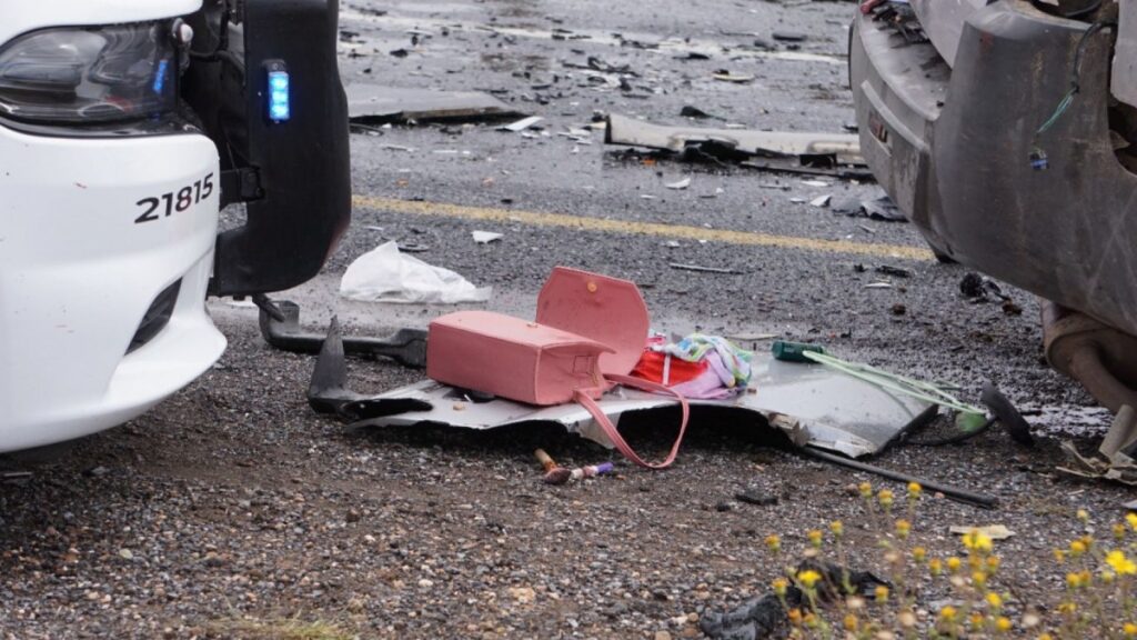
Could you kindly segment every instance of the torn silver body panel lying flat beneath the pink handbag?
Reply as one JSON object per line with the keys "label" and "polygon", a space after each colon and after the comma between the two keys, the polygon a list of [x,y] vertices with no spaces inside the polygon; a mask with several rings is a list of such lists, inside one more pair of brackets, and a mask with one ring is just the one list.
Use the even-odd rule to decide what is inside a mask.
{"label": "torn silver body panel lying flat beneath the pink handbag", "polygon": [[[318,366],[317,366],[318,367]],[[911,428],[931,420],[938,408],[895,394],[840,372],[810,364],[779,362],[760,354],[753,362],[753,393],[730,400],[691,400],[692,422],[700,408],[761,416],[797,446],[814,446],[860,458],[878,453]],[[316,399],[318,401],[318,399]],[[398,412],[384,403],[406,407],[408,401],[430,409]],[[558,424],[572,433],[611,446],[588,410],[579,404],[533,407],[508,400],[478,402],[463,391],[435,383],[421,383],[367,400],[375,417],[356,426],[450,426],[478,430],[521,424]],[[625,413],[666,410],[674,399],[616,387],[598,402],[619,425]],[[393,413],[393,415],[384,415]]]}

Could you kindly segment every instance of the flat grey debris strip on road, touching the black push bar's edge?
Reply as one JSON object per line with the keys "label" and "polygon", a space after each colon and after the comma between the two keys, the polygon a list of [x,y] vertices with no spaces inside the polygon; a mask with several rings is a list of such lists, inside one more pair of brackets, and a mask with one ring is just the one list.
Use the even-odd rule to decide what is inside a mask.
{"label": "flat grey debris strip on road, touching the black push bar's edge", "polygon": [[501,100],[476,91],[399,89],[349,84],[348,117],[352,124],[409,122],[487,122],[525,115]]}

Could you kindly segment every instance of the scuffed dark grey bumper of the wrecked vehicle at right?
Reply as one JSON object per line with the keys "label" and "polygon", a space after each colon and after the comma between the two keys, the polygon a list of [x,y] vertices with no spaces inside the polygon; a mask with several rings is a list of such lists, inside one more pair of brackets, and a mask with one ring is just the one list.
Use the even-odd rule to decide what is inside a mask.
{"label": "scuffed dark grey bumper of the wrecked vehicle at right", "polygon": [[863,155],[933,247],[1137,335],[1137,175],[1111,143],[1107,33],[1087,41],[1072,106],[1036,134],[1087,26],[1003,0],[968,19],[948,68],[858,15],[850,83]]}

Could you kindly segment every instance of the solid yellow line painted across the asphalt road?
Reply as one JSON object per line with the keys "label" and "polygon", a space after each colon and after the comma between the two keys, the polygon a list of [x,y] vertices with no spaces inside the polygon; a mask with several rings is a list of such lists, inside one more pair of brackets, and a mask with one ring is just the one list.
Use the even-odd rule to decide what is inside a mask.
{"label": "solid yellow line painted across the asphalt road", "polygon": [[533,227],[559,227],[579,229],[581,231],[623,233],[629,236],[656,236],[686,240],[707,240],[731,245],[753,245],[800,249],[821,253],[840,253],[852,255],[871,255],[877,257],[894,257],[905,260],[931,261],[932,253],[921,247],[903,245],[882,245],[853,243],[849,240],[821,240],[818,238],[800,238],[796,236],[774,236],[771,233],[753,233],[749,231],[731,231],[727,229],[706,229],[703,227],[686,227],[681,224],[661,224],[657,222],[638,222],[634,220],[607,220],[562,213],[539,213],[532,211],[514,211],[480,206],[463,206],[447,203],[429,203],[382,198],[376,196],[355,196],[355,206],[376,211],[412,215],[432,215],[440,218],[457,218],[462,220],[479,220],[484,222],[522,223]]}

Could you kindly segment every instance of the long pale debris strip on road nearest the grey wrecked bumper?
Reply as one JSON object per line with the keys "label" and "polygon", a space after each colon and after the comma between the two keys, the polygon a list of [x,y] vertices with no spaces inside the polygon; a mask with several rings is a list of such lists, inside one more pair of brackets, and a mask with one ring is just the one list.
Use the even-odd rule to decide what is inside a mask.
{"label": "long pale debris strip on road nearest the grey wrecked bumper", "polygon": [[608,145],[683,153],[691,145],[716,142],[745,156],[832,157],[837,164],[863,165],[861,141],[849,133],[802,133],[738,129],[663,126],[612,114],[605,133]]}

